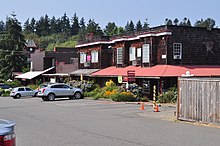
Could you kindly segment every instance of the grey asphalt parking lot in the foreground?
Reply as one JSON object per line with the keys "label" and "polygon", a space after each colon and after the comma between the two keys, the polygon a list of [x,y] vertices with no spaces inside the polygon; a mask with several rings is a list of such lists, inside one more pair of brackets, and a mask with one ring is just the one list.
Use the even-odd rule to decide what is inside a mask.
{"label": "grey asphalt parking lot in the foreground", "polygon": [[102,100],[0,97],[0,117],[16,122],[18,146],[214,146],[220,130],[176,122],[175,106]]}

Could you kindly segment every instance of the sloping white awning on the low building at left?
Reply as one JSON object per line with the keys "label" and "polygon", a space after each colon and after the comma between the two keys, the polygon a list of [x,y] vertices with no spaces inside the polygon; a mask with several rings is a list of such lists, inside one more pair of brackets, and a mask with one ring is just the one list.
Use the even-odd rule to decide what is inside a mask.
{"label": "sloping white awning on the low building at left", "polygon": [[54,68],[55,67],[51,67],[51,68],[48,68],[48,69],[43,70],[43,71],[30,71],[30,72],[26,72],[24,74],[16,76],[15,78],[16,79],[29,79],[29,80],[31,80],[31,79],[33,79],[33,78],[35,78],[35,77],[37,77],[37,76],[39,76],[39,75],[41,75],[43,73],[46,73],[46,72],[48,72],[48,71],[50,71],[50,70],[52,70]]}

